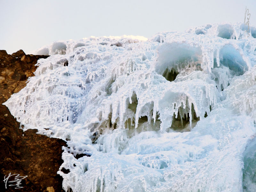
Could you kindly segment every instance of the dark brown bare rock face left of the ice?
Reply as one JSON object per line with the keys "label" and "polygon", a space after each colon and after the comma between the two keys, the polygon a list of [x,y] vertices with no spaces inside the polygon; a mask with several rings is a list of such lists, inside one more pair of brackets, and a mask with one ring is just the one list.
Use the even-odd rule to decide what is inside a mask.
{"label": "dark brown bare rock face left of the ice", "polygon": [[[28,77],[34,76],[37,60],[47,57],[26,55],[22,50],[9,55],[0,50],[0,103],[24,88]],[[57,171],[63,163],[61,146],[66,146],[66,142],[38,135],[37,130],[23,132],[19,127],[8,108],[0,104],[0,191],[63,191],[62,177]],[[10,172],[28,176],[21,180],[23,188],[9,186],[17,182],[8,182],[5,189],[4,175]],[[8,181],[12,180],[15,176]]]}

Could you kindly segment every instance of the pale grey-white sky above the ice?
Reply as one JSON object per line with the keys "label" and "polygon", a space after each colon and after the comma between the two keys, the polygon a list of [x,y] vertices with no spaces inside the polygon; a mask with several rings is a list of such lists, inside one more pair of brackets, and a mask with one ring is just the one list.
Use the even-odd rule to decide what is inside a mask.
{"label": "pale grey-white sky above the ice", "polygon": [[256,26],[256,0],[0,0],[0,49],[25,53],[58,40],[184,31],[208,23]]}

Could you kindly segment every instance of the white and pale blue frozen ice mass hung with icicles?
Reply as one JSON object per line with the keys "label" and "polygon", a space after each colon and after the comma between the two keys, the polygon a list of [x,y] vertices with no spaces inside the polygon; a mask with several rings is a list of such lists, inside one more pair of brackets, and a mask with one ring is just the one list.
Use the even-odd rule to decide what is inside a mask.
{"label": "white and pale blue frozen ice mass hung with icicles", "polygon": [[225,23],[54,42],[4,104],[67,141],[66,191],[256,191],[255,34]]}

